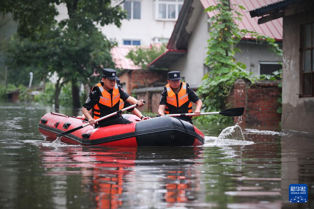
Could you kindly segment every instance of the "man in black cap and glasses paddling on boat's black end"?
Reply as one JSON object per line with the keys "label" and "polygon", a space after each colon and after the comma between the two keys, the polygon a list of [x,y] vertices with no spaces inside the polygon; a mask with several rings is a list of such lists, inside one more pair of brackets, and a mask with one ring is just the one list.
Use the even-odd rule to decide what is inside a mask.
{"label": "man in black cap and glasses paddling on boat's black end", "polygon": [[[164,88],[165,91],[161,92],[158,114],[165,116],[165,114],[192,113],[191,102],[196,103],[195,116],[201,114],[203,102],[187,83],[181,82],[179,71],[168,73],[168,84]],[[192,123],[192,117],[178,118]]]}

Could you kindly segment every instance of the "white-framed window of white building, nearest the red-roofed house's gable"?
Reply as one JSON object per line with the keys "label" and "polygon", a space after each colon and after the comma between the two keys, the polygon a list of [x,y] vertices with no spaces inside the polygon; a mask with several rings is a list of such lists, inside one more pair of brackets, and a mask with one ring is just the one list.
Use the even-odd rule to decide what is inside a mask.
{"label": "white-framed window of white building, nearest the red-roofed house's gable", "polygon": [[156,19],[176,20],[184,0],[156,0]]}

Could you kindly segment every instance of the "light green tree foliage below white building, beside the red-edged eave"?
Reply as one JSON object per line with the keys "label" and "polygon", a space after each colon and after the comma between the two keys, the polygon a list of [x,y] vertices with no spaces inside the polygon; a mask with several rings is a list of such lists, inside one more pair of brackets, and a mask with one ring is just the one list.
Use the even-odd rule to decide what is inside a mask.
{"label": "light green tree foliage below white building, beside the red-edged eave", "polygon": [[126,58],[130,58],[135,65],[142,69],[146,69],[146,66],[154,61],[160,54],[166,51],[166,44],[151,45],[150,47],[136,47],[130,50],[126,55]]}

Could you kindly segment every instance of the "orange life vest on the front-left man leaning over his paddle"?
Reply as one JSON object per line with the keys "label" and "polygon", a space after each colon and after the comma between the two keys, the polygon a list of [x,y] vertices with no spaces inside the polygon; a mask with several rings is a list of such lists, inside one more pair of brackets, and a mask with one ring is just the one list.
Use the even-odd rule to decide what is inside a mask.
{"label": "orange life vest on the front-left man leaning over his paddle", "polygon": [[101,83],[98,83],[94,87],[98,87],[101,92],[98,103],[93,107],[93,118],[95,120],[119,110],[120,93],[117,84],[115,84],[112,90],[112,97],[111,94],[104,89]]}

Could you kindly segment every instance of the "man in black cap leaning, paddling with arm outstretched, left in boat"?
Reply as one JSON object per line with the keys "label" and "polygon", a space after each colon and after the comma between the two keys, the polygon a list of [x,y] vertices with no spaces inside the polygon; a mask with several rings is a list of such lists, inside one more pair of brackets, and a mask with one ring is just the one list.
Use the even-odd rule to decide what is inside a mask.
{"label": "man in black cap leaning, paddling with arm outstretched, left in boat", "polygon": [[[143,100],[137,101],[134,97],[129,96],[115,80],[118,79],[114,69],[103,69],[101,82],[95,85],[89,94],[82,112],[86,116],[89,124],[95,124],[95,120],[106,116],[110,113],[119,111],[120,98],[131,104],[138,104],[143,107]],[[89,113],[92,109],[93,117]],[[120,114],[103,119],[95,124],[95,127],[104,127],[114,124],[129,124],[131,121],[122,118]]]}

